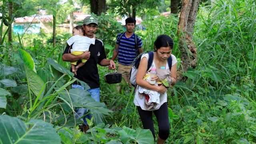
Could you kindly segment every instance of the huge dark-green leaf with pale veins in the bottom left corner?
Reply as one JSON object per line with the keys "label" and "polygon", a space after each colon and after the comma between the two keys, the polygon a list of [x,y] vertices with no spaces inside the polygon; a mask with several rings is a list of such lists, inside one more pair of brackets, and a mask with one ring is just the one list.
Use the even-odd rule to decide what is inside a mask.
{"label": "huge dark-green leaf with pale veins in the bottom left corner", "polygon": [[8,115],[0,116],[1,144],[60,144],[56,130],[43,120],[22,120]]}

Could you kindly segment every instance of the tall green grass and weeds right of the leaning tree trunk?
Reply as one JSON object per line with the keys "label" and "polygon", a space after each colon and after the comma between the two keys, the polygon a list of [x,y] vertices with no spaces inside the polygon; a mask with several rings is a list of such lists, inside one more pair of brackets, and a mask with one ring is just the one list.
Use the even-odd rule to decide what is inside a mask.
{"label": "tall green grass and weeds right of the leaning tree trunk", "polygon": [[[174,143],[253,143],[255,131],[255,2],[200,6],[194,29],[198,66],[174,86]],[[175,101],[175,102],[173,102]]]}

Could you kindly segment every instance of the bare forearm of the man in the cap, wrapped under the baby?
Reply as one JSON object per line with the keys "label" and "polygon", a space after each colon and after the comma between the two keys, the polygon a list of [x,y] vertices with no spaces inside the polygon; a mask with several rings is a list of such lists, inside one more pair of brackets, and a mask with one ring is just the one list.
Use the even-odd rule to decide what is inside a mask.
{"label": "bare forearm of the man in the cap, wrapped under the baby", "polygon": [[88,60],[89,58],[90,58],[90,52],[88,50],[86,50],[80,56],[75,56],[75,55],[70,54],[70,53],[66,53],[66,54],[62,55],[62,60],[67,61],[67,62],[73,62],[73,61],[82,60],[82,59]]}

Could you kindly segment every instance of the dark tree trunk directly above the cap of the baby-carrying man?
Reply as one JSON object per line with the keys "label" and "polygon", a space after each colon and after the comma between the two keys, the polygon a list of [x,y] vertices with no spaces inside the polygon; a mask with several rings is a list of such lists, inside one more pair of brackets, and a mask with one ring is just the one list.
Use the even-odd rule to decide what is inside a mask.
{"label": "dark tree trunk directly above the cap of the baby-carrying man", "polygon": [[106,13],[106,0],[90,0],[91,12],[100,16],[100,14]]}

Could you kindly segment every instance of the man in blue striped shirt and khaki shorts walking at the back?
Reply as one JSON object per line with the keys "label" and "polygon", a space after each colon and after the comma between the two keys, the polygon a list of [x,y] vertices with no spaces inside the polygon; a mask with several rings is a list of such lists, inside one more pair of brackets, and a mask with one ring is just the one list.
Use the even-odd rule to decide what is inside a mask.
{"label": "man in blue striped shirt and khaki shorts walking at the back", "polygon": [[[136,20],[134,18],[126,18],[126,32],[124,34],[118,34],[116,38],[116,47],[114,48],[113,56],[111,58],[111,60],[114,61],[118,56],[118,72],[122,74],[122,78],[125,80],[122,80],[122,84],[126,85],[128,83],[130,88],[132,88],[130,83],[132,62],[138,54],[143,52],[142,40],[134,34],[135,25]],[[120,38],[120,36],[122,37]],[[137,38],[137,44],[135,43],[135,38]],[[120,87],[118,89],[120,89]]]}

